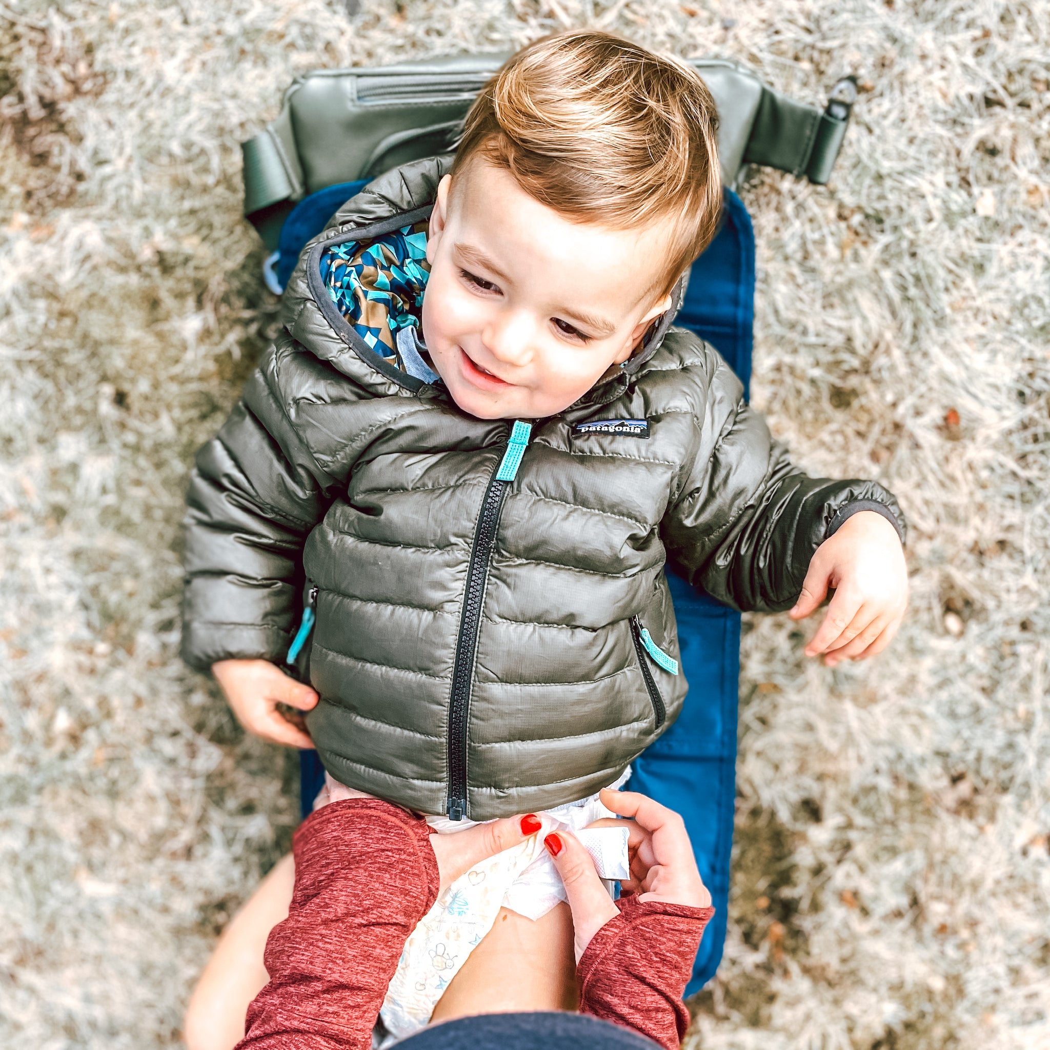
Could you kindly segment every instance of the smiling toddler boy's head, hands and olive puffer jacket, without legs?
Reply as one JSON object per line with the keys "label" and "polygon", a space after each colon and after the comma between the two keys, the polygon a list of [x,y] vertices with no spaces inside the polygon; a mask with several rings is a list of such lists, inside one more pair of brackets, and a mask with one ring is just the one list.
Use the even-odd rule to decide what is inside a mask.
{"label": "smiling toddler boy's head, hands and olive puffer jacket, without legs", "polygon": [[830,664],[889,642],[894,498],[794,467],[672,327],[717,228],[715,127],[684,64],[548,38],[455,159],[383,175],[308,246],[188,497],[183,652],[246,728],[491,820],[592,795],[677,716],[668,561],[741,609],[805,616],[834,587],[806,650]]}

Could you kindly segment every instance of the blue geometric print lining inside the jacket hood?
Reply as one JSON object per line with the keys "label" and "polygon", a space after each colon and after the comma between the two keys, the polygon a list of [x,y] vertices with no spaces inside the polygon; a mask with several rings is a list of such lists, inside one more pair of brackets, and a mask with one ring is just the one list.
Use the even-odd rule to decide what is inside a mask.
{"label": "blue geometric print lining inside the jacket hood", "polygon": [[321,256],[321,279],[332,301],[377,354],[396,361],[398,329],[419,324],[430,276],[428,223],[416,223],[362,245],[350,240]]}

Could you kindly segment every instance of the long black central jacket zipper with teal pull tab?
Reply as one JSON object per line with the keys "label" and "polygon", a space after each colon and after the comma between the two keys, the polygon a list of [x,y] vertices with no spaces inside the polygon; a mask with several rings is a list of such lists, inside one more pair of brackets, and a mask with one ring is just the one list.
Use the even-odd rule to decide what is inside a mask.
{"label": "long black central jacket zipper with teal pull tab", "polygon": [[510,432],[507,449],[492,471],[481,504],[478,527],[470,549],[470,564],[466,573],[466,592],[460,616],[459,636],[456,640],[456,662],[453,665],[453,688],[448,697],[448,801],[449,820],[467,816],[466,804],[466,752],[467,721],[470,714],[470,682],[478,650],[478,631],[481,628],[481,607],[488,579],[488,563],[496,546],[496,527],[503,510],[503,499],[514,480],[525,445],[528,443],[530,423],[517,420]]}

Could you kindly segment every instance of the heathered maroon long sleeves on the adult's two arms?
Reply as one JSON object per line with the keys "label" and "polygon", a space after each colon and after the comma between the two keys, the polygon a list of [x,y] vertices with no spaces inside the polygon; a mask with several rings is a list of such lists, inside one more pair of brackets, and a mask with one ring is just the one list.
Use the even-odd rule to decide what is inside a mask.
{"label": "heathered maroon long sleeves on the adult's two arms", "polygon": [[[426,822],[387,802],[348,799],[295,833],[295,889],[270,932],[270,983],[237,1050],[369,1050],[401,949],[438,896]],[[576,967],[580,1008],[676,1048],[681,993],[713,908],[618,902]]]}

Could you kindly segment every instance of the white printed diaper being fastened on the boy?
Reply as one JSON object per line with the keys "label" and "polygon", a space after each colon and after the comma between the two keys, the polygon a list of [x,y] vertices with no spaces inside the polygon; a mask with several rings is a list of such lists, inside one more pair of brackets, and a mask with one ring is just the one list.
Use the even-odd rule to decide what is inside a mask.
{"label": "white printed diaper being fastened on the boy", "polygon": [[[630,775],[628,768],[610,788],[623,786]],[[336,788],[335,781],[332,786]],[[560,828],[576,833],[615,814],[595,794],[537,816],[543,822],[538,835],[472,867],[452,883],[420,920],[405,943],[379,1011],[388,1033],[384,1045],[426,1026],[448,982],[492,928],[501,907],[534,921],[565,900],[561,877],[543,845],[544,836]],[[454,835],[475,824],[446,817],[427,817],[426,822],[439,835]],[[608,880],[628,877],[626,832],[609,828],[608,834],[582,837],[600,874]]]}

